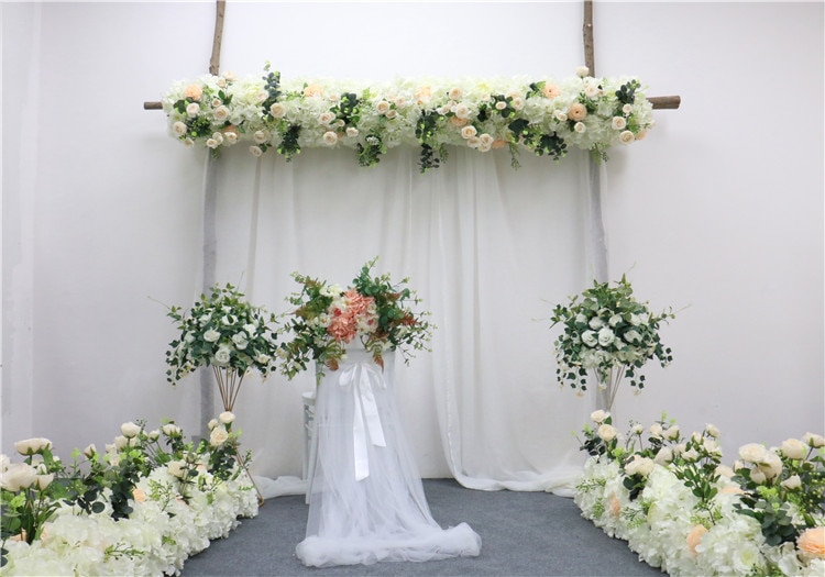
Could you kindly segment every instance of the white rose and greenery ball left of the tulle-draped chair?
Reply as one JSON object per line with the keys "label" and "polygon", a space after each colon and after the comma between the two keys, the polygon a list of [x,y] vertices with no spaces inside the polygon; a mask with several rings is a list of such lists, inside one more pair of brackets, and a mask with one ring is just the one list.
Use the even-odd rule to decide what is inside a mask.
{"label": "white rose and greenery ball left of the tulle-draped chair", "polygon": [[198,367],[211,367],[227,411],[250,370],[265,378],[275,368],[275,315],[250,304],[232,285],[215,285],[190,310],[172,307],[167,315],[180,331],[166,352],[167,380],[175,385]]}

